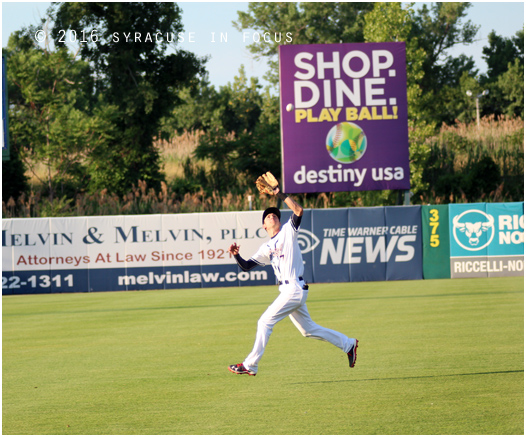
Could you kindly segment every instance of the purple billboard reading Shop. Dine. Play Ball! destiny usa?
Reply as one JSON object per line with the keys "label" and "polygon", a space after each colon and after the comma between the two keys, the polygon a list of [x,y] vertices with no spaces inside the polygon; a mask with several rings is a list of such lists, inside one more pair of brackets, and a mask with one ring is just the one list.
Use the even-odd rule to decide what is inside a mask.
{"label": "purple billboard reading Shop. Dine. Play Ball! destiny usa", "polygon": [[279,47],[283,188],[409,189],[405,43]]}

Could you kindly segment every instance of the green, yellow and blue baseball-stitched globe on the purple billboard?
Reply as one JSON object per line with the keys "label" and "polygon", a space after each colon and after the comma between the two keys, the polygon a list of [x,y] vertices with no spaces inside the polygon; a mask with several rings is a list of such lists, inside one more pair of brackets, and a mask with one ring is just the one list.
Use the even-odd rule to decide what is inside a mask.
{"label": "green, yellow and blue baseball-stitched globe on the purple billboard", "polygon": [[365,154],[367,137],[360,126],[344,121],[329,131],[326,146],[332,159],[349,164]]}

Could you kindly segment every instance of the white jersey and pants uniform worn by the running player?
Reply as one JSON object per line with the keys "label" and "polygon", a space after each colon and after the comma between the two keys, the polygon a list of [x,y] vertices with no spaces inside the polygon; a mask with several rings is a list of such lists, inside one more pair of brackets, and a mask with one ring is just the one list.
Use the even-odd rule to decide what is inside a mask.
{"label": "white jersey and pants uniform worn by the running player", "polygon": [[300,223],[301,217],[293,214],[281,230],[263,244],[248,262],[236,256],[243,270],[249,270],[256,265],[272,264],[280,284],[280,295],[260,317],[254,348],[243,362],[245,368],[253,372],[258,370],[259,360],[263,356],[274,325],[286,316],[290,317],[305,337],[328,341],[345,353],[355,344],[354,339],[314,323],[309,315],[306,305],[308,287],[302,277],[303,257],[298,244]]}

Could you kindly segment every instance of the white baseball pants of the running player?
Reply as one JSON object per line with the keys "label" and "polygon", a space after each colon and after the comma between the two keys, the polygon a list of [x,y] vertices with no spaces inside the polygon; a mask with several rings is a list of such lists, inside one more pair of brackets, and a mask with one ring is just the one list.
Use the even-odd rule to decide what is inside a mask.
{"label": "white baseball pants of the running player", "polygon": [[254,348],[243,362],[246,369],[257,372],[259,360],[265,352],[274,325],[286,316],[290,317],[292,323],[304,337],[327,341],[345,353],[351,349],[353,340],[349,337],[312,321],[306,305],[309,292],[303,289],[303,281],[288,285],[283,284],[279,287],[279,291],[280,295],[258,320]]}

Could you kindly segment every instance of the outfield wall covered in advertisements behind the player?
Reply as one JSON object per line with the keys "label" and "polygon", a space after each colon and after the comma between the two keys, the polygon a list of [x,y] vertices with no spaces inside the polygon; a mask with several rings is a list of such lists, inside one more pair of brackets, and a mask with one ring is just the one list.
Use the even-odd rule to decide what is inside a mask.
{"label": "outfield wall covered in advertisements behind the player", "polygon": [[[275,284],[227,252],[267,239],[261,211],[5,219],[2,293]],[[305,210],[298,239],[307,282],[517,276],[524,203]]]}

